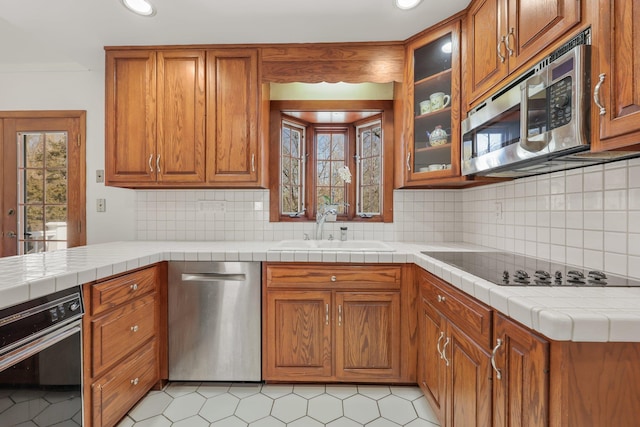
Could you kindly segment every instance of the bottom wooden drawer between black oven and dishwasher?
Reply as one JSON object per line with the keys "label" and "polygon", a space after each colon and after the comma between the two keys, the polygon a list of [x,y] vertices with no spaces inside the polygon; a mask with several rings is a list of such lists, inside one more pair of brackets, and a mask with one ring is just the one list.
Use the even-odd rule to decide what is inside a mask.
{"label": "bottom wooden drawer between black oven and dishwasher", "polygon": [[157,343],[152,340],[91,387],[94,427],[111,427],[159,380]]}

